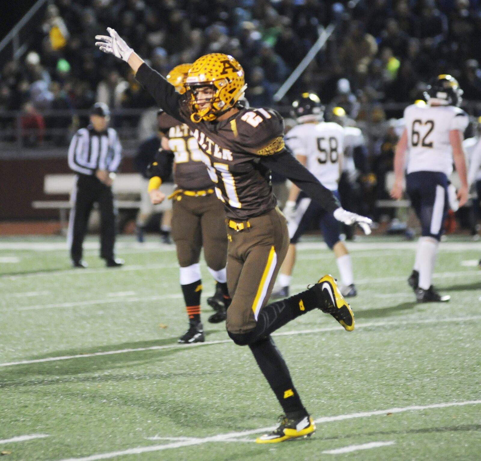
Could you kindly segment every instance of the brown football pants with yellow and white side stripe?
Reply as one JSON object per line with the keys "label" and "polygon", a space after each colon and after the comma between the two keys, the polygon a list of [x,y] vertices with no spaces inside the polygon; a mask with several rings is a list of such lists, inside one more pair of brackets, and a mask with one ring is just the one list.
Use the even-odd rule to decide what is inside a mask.
{"label": "brown football pants with yellow and white side stripe", "polygon": [[230,333],[255,328],[260,310],[267,304],[289,246],[289,232],[278,208],[265,215],[236,221],[243,230],[228,231],[227,284],[232,303],[227,309]]}

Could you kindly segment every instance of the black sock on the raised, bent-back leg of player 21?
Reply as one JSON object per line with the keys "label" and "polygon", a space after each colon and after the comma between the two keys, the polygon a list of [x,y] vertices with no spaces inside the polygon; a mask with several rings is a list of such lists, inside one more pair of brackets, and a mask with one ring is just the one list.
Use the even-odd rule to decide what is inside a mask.
{"label": "black sock on the raised, bent-back leg of player 21", "polygon": [[253,334],[258,338],[269,335],[296,317],[316,309],[320,305],[319,293],[315,290],[306,290],[282,301],[268,304],[261,309]]}

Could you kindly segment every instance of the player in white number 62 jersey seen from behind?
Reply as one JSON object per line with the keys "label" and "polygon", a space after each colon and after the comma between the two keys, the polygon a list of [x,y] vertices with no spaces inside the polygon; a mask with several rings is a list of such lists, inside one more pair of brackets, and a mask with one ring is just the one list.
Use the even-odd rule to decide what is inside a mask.
{"label": "player in white number 62 jersey seen from behind", "polygon": [[454,77],[444,74],[436,77],[424,94],[428,104],[425,107],[415,104],[406,107],[405,129],[394,155],[395,182],[391,196],[400,199],[403,194],[405,155],[409,151],[406,192],[421,221],[422,236],[408,283],[420,303],[450,299],[450,296],[439,295],[431,282],[448,210],[448,177],[453,171],[453,160],[461,181],[457,193],[459,206],[468,200],[462,145],[468,115],[457,107],[462,93]]}

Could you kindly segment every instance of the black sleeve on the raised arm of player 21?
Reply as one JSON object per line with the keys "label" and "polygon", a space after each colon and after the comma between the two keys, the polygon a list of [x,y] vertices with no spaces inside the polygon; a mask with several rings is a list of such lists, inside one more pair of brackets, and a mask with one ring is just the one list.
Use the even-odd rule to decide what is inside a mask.
{"label": "black sleeve on the raised arm of player 21", "polygon": [[145,63],[139,67],[135,78],[165,113],[184,123],[180,114],[181,95],[177,93],[173,85]]}

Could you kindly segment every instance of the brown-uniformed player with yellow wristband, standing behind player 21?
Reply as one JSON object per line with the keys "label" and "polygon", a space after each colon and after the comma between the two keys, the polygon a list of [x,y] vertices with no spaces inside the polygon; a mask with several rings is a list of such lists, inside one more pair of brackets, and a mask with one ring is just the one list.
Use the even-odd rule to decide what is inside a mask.
{"label": "brown-uniformed player with yellow wristband, standing behind player 21", "polygon": [[[179,94],[185,93],[184,83],[192,64],[179,64],[167,75],[167,81]],[[224,205],[214,192],[212,180],[202,163],[202,152],[190,134],[190,128],[162,112],[158,117],[159,130],[164,133],[163,146],[149,166],[152,175],[149,195],[153,204],[162,203],[165,194],[162,181],[174,167],[177,186],[169,197],[172,205],[172,238],[176,243],[180,266],[180,286],[189,316],[189,329],[178,342],[191,344],[205,340],[201,322],[202,280],[199,258],[202,247],[207,269],[216,281],[216,293],[208,304],[216,309],[209,317],[211,323],[226,320],[230,304],[227,289],[227,232]]]}

